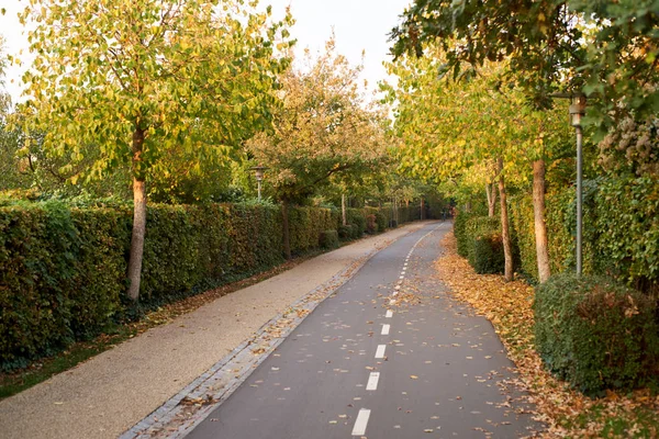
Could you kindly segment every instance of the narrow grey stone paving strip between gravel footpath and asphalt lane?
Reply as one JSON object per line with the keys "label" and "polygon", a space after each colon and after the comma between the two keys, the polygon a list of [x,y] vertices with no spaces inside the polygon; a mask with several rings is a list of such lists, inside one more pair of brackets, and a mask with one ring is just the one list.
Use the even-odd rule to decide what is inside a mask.
{"label": "narrow grey stone paving strip between gravel footpath and asphalt lane", "polygon": [[[407,233],[412,233],[410,230]],[[406,234],[405,234],[406,235]],[[401,235],[398,238],[400,239]],[[351,275],[382,248],[393,240],[373,248],[367,255],[353,262],[328,281],[294,302],[286,312],[278,314],[263,325],[253,337],[238,345],[206,372],[188,384],[143,420],[120,436],[120,439],[183,438],[217,408],[231,394],[244,383],[252,372],[288,337],[304,318],[325,299],[347,282]],[[292,316],[289,318],[289,316]],[[286,327],[276,337],[270,336],[271,328]],[[253,351],[254,346],[264,349]]]}

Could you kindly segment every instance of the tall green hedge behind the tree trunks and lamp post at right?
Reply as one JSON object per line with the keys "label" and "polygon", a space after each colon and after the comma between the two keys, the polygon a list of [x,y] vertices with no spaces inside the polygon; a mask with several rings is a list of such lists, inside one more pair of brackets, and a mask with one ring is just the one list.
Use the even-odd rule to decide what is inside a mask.
{"label": "tall green hedge behind the tree trunks and lamp post at right", "polygon": [[[583,200],[583,272],[614,275],[638,290],[657,292],[659,177],[588,180]],[[511,206],[522,269],[537,281],[533,200],[530,195],[516,196]],[[548,193],[546,206],[551,272],[573,271],[574,188]]]}

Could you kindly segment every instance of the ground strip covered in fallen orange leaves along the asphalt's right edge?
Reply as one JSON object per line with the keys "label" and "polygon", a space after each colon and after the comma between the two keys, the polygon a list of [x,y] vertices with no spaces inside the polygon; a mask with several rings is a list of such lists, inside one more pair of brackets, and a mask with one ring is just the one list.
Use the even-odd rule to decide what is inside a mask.
{"label": "ground strip covered in fallen orange leaves along the asphalt's right edge", "polygon": [[534,348],[534,290],[522,280],[504,282],[502,275],[476,274],[457,255],[453,234],[444,239],[445,254],[437,260],[439,275],[453,294],[471,304],[494,325],[528,391],[537,418],[548,425],[547,438],[657,438],[659,396],[649,390],[630,394],[611,392],[591,399],[545,371]]}

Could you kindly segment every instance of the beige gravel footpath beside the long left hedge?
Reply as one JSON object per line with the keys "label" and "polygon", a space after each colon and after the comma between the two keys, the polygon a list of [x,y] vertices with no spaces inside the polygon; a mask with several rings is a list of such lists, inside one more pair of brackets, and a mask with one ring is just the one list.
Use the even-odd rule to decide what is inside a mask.
{"label": "beige gravel footpath beside the long left hedge", "polygon": [[0,437],[116,438],[292,303],[424,224],[313,258],[1,401]]}

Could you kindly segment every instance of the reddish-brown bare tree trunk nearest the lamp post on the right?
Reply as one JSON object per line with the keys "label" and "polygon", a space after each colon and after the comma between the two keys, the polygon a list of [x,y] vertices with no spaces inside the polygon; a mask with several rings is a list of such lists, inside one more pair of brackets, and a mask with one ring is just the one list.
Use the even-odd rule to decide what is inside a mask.
{"label": "reddish-brown bare tree trunk nearest the lamp post on the right", "polygon": [[538,280],[544,283],[551,275],[549,267],[549,243],[545,222],[545,160],[533,162],[533,213],[536,236]]}

